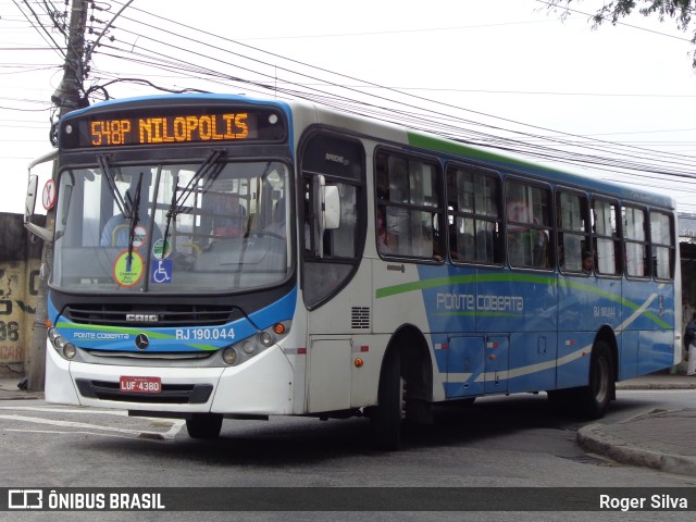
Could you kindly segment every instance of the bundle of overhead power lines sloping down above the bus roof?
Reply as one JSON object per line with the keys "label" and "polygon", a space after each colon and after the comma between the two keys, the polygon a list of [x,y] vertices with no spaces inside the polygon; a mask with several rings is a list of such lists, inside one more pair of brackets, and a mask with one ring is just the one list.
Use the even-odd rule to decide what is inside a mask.
{"label": "bundle of overhead power lines sloping down above the bus roof", "polygon": [[[356,114],[362,114],[366,117],[383,120],[389,123],[406,124],[415,129],[432,132],[434,134],[457,139],[467,144],[497,148],[498,150],[504,152],[522,154],[529,158],[536,159],[537,161],[563,162],[574,165],[591,165],[595,169],[605,170],[607,172],[614,172],[617,174],[620,174],[622,170],[635,170],[637,172],[643,171],[646,173],[644,176],[650,179],[656,178],[656,171],[660,171],[662,175],[666,176],[666,178],[672,177],[673,179],[691,179],[696,175],[696,159],[694,157],[645,149],[643,147],[627,145],[626,142],[613,142],[592,138],[592,136],[600,135],[573,135],[567,133],[558,133],[545,127],[529,125],[523,122],[500,119],[498,116],[484,112],[470,111],[465,108],[457,107],[455,104],[442,103],[421,96],[413,96],[402,91],[407,89],[397,89],[393,87],[385,87],[377,84],[362,82],[336,72],[320,67],[313,67],[312,65],[309,65],[307,63],[294,61],[278,54],[268,53],[266,51],[263,51],[261,49],[257,49],[235,40],[223,38],[220,35],[201,32],[200,29],[197,29],[195,27],[188,26],[186,24],[179,24],[177,22],[159,15],[154,15],[147,11],[137,10],[135,8],[132,8],[132,10],[139,11],[144,14],[152,16],[158,21],[164,21],[166,24],[170,24],[169,28],[164,28],[160,27],[158,24],[153,24],[150,22],[145,23],[141,20],[128,20],[134,24],[146,25],[148,27],[148,34],[150,34],[152,30],[158,30],[161,33],[172,33],[171,24],[176,24],[178,27],[185,27],[187,30],[195,32],[196,35],[203,34],[213,39],[222,39],[226,44],[225,47],[213,46],[213,49],[220,51],[221,53],[223,53],[223,55],[227,54],[229,57],[234,57],[234,59],[237,61],[223,61],[216,58],[211,58],[209,52],[211,46],[208,42],[206,44],[206,52],[198,52],[194,50],[194,47],[201,41],[201,38],[198,36],[186,37],[183,35],[182,38],[188,41],[189,45],[187,47],[178,45],[171,46],[177,51],[176,55],[167,57],[161,52],[154,51],[153,49],[148,49],[147,47],[142,49],[139,46],[135,46],[133,44],[128,45],[125,42],[115,42],[113,45],[102,46],[95,52],[98,52],[101,55],[111,55],[116,60],[127,60],[128,63],[139,62],[148,65],[149,67],[157,67],[161,71],[175,73],[179,77],[186,79],[190,79],[194,76],[204,76],[206,79],[213,85],[222,85],[225,86],[225,88],[228,88],[232,84],[238,84],[240,86],[244,86],[245,90],[264,94],[271,92],[274,96],[282,97],[286,96],[306,98],[310,101],[314,101],[316,103],[325,104],[328,107],[334,107],[341,111],[353,112]],[[126,17],[124,16],[124,20],[125,18]],[[123,27],[120,27],[119,29],[128,30]],[[159,41],[154,38],[150,38],[147,34],[138,34],[137,32],[133,30],[128,30],[128,33],[134,36],[135,42],[149,39],[149,41],[154,45]],[[227,46],[227,44],[232,44],[233,46],[240,46],[241,48],[246,49],[246,52],[233,52],[231,46]],[[104,52],[102,52],[102,49]],[[140,50],[136,52],[135,49]],[[107,50],[111,50],[112,52],[108,52]],[[268,55],[271,58],[258,59],[249,55],[249,52],[254,52],[260,54],[261,57]],[[185,61],[185,55],[195,57],[196,61]],[[203,61],[208,59],[211,60],[211,65],[216,64],[214,69],[212,66],[206,66],[203,64]],[[293,65],[284,65],[282,67],[278,67],[277,63],[275,62],[276,60],[281,60],[282,63],[290,63]],[[248,63],[248,65],[244,65],[245,61]],[[220,67],[220,65],[222,65],[222,69]],[[297,66],[307,67],[309,71],[318,71],[320,74],[330,75],[332,77],[340,79],[348,78],[351,80],[357,80],[359,85],[356,86],[352,84],[346,84],[345,82],[339,83],[337,80],[330,80],[325,77],[306,74],[298,71]],[[225,73],[225,69],[236,69],[239,71],[244,71],[247,73],[244,76],[248,74],[257,74],[262,79],[248,80],[245,79],[243,75],[232,75],[229,73]],[[282,71],[282,73],[279,74],[282,74],[283,76],[294,75],[295,78],[279,77],[279,71]],[[274,72],[275,74],[273,74]],[[99,85],[99,79],[96,76],[97,73],[101,74],[101,77],[109,77],[108,73],[102,73],[97,69],[92,70],[92,77],[96,79],[92,80],[92,88]],[[116,78],[114,77],[114,75],[110,76],[112,82],[116,79],[124,79]],[[310,82],[308,82],[308,78]],[[142,83],[146,82],[142,78],[135,79]],[[316,84],[311,85],[311,80],[315,80]],[[341,89],[344,91],[347,91],[348,95],[340,95],[336,91],[340,91]],[[374,90],[377,91],[377,96],[375,96],[374,92],[371,92]],[[408,90],[417,89],[412,88]],[[500,91],[500,94],[502,92],[505,91]],[[395,98],[395,95],[396,97],[405,96],[407,97],[407,99],[415,101],[407,103],[397,101],[397,103],[393,103],[391,99]],[[571,95],[572,94],[566,96]],[[592,96],[593,94],[586,95]],[[356,96],[364,97],[366,99],[372,98],[375,101],[370,103],[365,100],[357,100]],[[443,107],[443,109],[433,111],[426,109],[423,103],[432,103],[438,107]],[[470,119],[458,116],[456,114],[451,114],[452,111],[469,112],[486,120],[489,119],[492,121],[501,121],[504,123],[502,125],[486,124],[481,121],[473,121]],[[532,128],[536,132],[520,132],[504,126],[509,124],[520,126],[522,128]],[[548,136],[542,135],[538,133],[538,130],[552,134]],[[613,133],[604,135],[613,135]],[[582,152],[559,150],[559,148],[573,149],[579,147],[582,148]],[[621,158],[602,158],[598,156],[600,153],[613,156],[619,154]]]}

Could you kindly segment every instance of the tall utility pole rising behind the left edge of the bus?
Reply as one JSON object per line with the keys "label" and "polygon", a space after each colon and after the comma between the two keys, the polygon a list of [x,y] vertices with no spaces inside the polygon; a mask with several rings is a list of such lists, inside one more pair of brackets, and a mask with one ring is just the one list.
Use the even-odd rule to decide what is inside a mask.
{"label": "tall utility pole rising behind the left edge of the bus", "polygon": [[[80,91],[83,90],[85,30],[87,28],[87,0],[73,0],[70,15],[70,30],[65,64],[63,65],[63,79],[55,89],[51,101],[59,108],[59,117],[80,107]],[[55,175],[55,171],[53,172]],[[55,224],[55,210],[48,211],[46,227],[53,235]],[[34,331],[29,347],[27,368],[27,389],[40,391],[44,389],[46,377],[46,337],[48,321],[48,277],[51,273],[53,259],[53,245],[44,243],[41,253],[41,272],[39,278],[38,295],[36,299],[36,314],[34,316]]]}

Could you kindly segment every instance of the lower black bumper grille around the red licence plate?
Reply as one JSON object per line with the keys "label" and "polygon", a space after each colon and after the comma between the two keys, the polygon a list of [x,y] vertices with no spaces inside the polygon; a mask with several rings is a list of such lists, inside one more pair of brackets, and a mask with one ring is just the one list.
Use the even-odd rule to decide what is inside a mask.
{"label": "lower black bumper grille around the red licence plate", "polygon": [[123,393],[119,383],[75,380],[83,397],[100,400],[122,400],[151,405],[202,405],[213,391],[212,384],[162,384],[159,394]]}

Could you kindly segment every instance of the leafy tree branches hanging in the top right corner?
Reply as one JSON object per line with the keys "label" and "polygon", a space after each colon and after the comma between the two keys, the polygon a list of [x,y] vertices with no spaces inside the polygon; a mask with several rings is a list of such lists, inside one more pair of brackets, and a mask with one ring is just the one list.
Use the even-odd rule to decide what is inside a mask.
{"label": "leafy tree branches hanging in the top right corner", "polygon": [[[548,0],[548,9],[556,11],[563,9],[562,16],[568,15],[571,4],[579,4],[582,0]],[[564,8],[563,8],[564,5]],[[611,0],[592,16],[594,27],[605,22],[619,23],[624,16],[629,16],[635,10],[644,15],[657,15],[660,22],[672,18],[680,30],[686,32],[692,23],[692,16],[696,14],[696,0]],[[692,36],[692,44],[696,45],[696,30]],[[696,69],[696,51],[692,53],[692,66]]]}

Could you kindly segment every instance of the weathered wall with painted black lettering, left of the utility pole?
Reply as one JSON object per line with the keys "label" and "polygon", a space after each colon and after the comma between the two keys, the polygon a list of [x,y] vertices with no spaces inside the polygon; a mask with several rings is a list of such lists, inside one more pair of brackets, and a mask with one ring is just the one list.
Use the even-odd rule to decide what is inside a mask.
{"label": "weathered wall with painted black lettering, left of the utility pole", "polygon": [[[41,241],[24,216],[0,212],[0,375],[24,375],[39,285]],[[44,225],[44,223],[38,223]]]}

